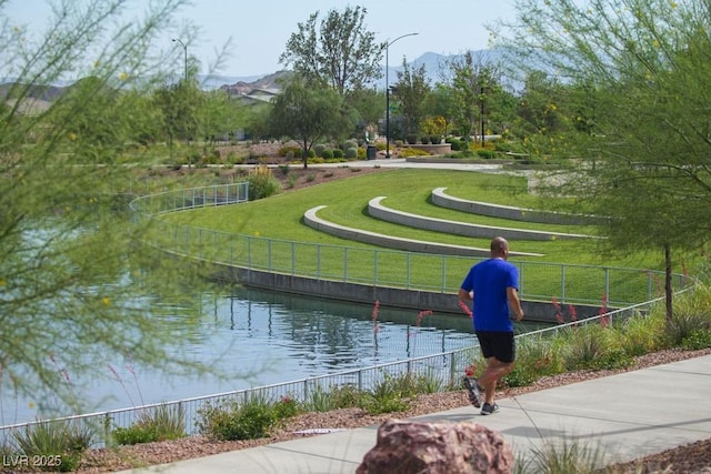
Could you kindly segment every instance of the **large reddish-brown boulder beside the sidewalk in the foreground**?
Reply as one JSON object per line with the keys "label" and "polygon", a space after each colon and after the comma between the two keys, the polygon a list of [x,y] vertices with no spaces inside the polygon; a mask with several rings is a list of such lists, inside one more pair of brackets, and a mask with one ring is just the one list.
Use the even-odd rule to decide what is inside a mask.
{"label": "large reddish-brown boulder beside the sidewalk in the foreground", "polygon": [[389,420],[357,474],[510,473],[513,452],[500,433],[477,423]]}

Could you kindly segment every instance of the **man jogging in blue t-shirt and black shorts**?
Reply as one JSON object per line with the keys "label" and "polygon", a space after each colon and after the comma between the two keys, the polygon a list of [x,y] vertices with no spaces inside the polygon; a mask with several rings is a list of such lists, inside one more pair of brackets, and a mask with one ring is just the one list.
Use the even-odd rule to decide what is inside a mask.
{"label": "man jogging in blue t-shirt and black shorts", "polygon": [[473,325],[487,367],[479,380],[464,379],[471,403],[479,407],[483,392],[482,415],[499,411],[494,403],[497,382],[513,370],[515,345],[511,311],[515,321],[523,319],[519,300],[519,271],[507,262],[509,242],[498,236],[491,241],[491,258],[469,270],[459,290],[463,302],[473,300]]}

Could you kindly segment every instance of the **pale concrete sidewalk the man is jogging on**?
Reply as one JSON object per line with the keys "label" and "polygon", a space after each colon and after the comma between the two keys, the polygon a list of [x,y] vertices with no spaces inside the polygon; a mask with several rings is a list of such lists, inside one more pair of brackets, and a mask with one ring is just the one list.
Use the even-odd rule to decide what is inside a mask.
{"label": "pale concrete sidewalk the man is jogging on", "polygon": [[[498,401],[481,416],[465,406],[419,416],[475,422],[503,434],[517,458],[544,443],[600,448],[605,464],[711,437],[711,355]],[[353,473],[375,444],[378,426],[329,433],[124,473]]]}

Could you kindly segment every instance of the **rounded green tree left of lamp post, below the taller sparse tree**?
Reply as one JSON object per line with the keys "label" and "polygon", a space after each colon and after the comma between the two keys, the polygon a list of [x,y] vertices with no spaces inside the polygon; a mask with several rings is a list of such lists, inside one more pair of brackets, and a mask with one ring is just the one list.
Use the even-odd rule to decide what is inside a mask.
{"label": "rounded green tree left of lamp post, below the taller sparse tree", "polygon": [[314,143],[351,130],[354,123],[353,110],[344,105],[336,91],[313,89],[296,78],[273,99],[269,115],[272,135],[299,142],[304,169]]}

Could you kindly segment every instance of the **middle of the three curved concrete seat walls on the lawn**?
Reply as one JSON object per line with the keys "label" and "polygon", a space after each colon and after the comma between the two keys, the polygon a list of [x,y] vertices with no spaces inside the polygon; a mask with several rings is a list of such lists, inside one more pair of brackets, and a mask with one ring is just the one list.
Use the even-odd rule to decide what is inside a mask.
{"label": "middle of the three curved concrete seat walls on the lawn", "polygon": [[505,235],[508,239],[520,240],[558,240],[558,239],[587,239],[590,235],[568,234],[562,232],[541,232],[525,229],[497,228],[492,225],[469,224],[465,222],[449,221],[444,219],[428,218],[385,208],[381,201],[385,196],[373,198],[368,202],[368,213],[387,222],[408,225],[428,231],[445,232],[455,235],[493,239]]}

